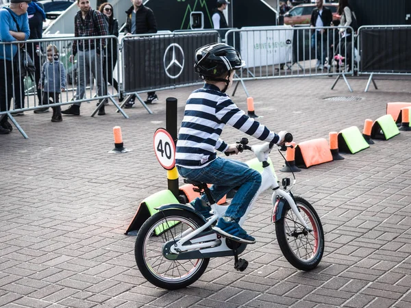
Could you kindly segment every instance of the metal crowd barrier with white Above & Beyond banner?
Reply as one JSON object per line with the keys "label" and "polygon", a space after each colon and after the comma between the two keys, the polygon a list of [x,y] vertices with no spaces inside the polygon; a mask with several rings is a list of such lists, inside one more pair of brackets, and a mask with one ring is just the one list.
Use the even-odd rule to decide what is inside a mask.
{"label": "metal crowd barrier with white Above & Beyond banner", "polygon": [[353,54],[354,38],[341,37],[340,29],[352,31],[351,27],[243,27],[227,31],[225,42],[245,60],[237,81],[246,93],[244,80],[314,76],[337,76],[336,81],[343,76],[352,92],[345,75],[353,75],[353,57],[351,63],[347,57]]}

